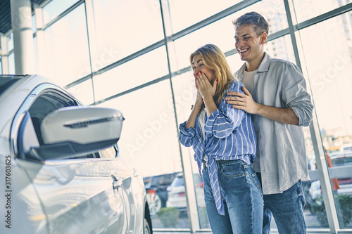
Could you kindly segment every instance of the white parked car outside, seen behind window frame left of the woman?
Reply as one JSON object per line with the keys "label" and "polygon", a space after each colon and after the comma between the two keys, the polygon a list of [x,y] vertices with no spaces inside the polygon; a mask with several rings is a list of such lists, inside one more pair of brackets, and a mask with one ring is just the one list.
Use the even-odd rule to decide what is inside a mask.
{"label": "white parked car outside, seen behind window frame left of the woman", "polygon": [[[193,177],[198,207],[206,207],[203,192],[204,184],[201,181],[201,177],[199,174],[194,174]],[[168,187],[168,202],[166,202],[166,207],[177,207],[181,212],[187,210],[186,190],[184,189],[184,177],[182,173],[177,174]]]}

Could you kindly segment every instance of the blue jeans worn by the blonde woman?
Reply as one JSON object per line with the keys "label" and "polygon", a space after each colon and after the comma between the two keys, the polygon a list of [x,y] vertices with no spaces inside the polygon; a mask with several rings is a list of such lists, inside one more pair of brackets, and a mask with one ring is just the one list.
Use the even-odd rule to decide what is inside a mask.
{"label": "blue jeans worn by the blonde woman", "polygon": [[203,170],[204,200],[211,230],[214,234],[261,233],[263,193],[253,168],[242,160],[220,160],[217,164],[225,216],[215,207],[208,168]]}

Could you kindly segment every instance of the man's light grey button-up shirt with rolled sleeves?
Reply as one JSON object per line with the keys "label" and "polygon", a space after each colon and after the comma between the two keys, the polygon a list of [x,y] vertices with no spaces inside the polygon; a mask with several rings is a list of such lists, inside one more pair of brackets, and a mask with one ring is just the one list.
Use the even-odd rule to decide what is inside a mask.
{"label": "man's light grey button-up shirt with rolled sleeves", "polygon": [[[246,63],[235,73],[241,81]],[[262,176],[263,194],[282,193],[299,181],[309,181],[302,126],[313,117],[306,81],[296,65],[267,53],[254,75],[253,100],[276,108],[292,108],[299,126],[253,115],[257,155],[253,168]],[[259,165],[258,165],[259,164]],[[260,167],[258,167],[260,166]]]}

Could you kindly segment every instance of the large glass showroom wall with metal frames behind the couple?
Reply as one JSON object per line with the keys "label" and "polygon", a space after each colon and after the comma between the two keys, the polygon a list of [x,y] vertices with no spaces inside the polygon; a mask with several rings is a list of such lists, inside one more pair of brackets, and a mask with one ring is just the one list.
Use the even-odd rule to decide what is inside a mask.
{"label": "large glass showroom wall with metal frames behind the couple", "polygon": [[[308,230],[352,230],[350,1],[52,0],[41,7],[45,45],[34,42],[45,47],[49,78],[86,105],[122,111],[121,157],[144,175],[153,228],[170,231],[210,228],[194,152],[177,139],[196,98],[189,54],[216,44],[235,72],[243,61],[234,50],[232,20],[250,11],[262,14],[270,24],[265,51],[301,65],[315,104],[316,121],[303,128],[311,178],[303,183]],[[14,74],[13,34],[6,36]],[[321,159],[327,173],[320,173]],[[323,178],[334,200],[327,200]],[[327,201],[335,205],[338,223],[328,222]],[[190,219],[194,215],[198,219]]]}

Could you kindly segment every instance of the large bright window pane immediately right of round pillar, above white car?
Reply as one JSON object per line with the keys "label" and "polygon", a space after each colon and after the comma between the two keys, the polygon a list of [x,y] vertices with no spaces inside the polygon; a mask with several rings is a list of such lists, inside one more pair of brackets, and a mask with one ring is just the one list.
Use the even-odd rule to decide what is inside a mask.
{"label": "large bright window pane immediately right of round pillar, above white car", "polygon": [[61,86],[91,72],[84,4],[44,31],[46,70]]}

